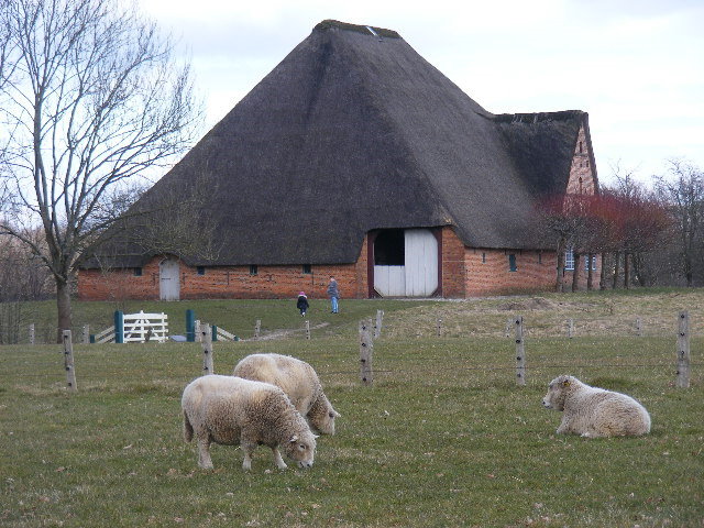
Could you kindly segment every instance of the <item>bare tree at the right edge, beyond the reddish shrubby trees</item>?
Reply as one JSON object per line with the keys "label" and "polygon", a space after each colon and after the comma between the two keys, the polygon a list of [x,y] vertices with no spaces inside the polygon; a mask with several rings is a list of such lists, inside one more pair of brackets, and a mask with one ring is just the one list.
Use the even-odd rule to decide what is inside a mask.
{"label": "bare tree at the right edge, beyond the reddish shrubby trees", "polygon": [[682,160],[669,164],[668,175],[656,178],[656,189],[676,223],[682,273],[692,286],[697,253],[704,249],[704,172]]}

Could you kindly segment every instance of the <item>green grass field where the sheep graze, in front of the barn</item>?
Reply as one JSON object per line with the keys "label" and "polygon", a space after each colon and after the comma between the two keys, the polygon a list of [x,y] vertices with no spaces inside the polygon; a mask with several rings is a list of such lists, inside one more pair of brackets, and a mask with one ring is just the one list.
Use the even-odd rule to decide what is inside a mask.
{"label": "green grass field where the sheep graze, in front of the barn", "polygon": [[[2,346],[0,526],[702,527],[701,327],[693,328],[692,386],[673,384],[674,315],[688,308],[700,321],[701,296],[547,296],[551,309],[536,308],[535,298],[346,301],[349,314],[337,320],[319,307],[328,324],[311,340],[295,331],[216,343],[218,373],[254,352],[288,353],[316,367],[342,417],[336,436],[319,439],[308,471],[292,464],[279,472],[260,448],[245,473],[241,451],[220,446],[211,450],[215,470],[197,468],[195,444],[182,439],[179,398],[200,374],[198,343],[75,345],[74,394],[57,345]],[[212,308],[201,302],[200,311]],[[293,302],[277,302],[227,306],[298,329],[300,318],[287,322]],[[609,326],[600,334],[586,322],[573,339],[529,331],[527,384],[517,387],[503,321],[521,312],[527,326],[552,328],[568,308],[584,321],[610,314],[622,331]],[[359,380],[356,322],[376,309],[385,322],[367,387]],[[623,331],[634,312],[651,321],[645,337]],[[656,316],[670,330],[666,322],[656,332]],[[438,318],[443,337],[433,334]],[[540,400],[562,373],[639,399],[652,416],[651,435],[556,436],[561,415]]]}

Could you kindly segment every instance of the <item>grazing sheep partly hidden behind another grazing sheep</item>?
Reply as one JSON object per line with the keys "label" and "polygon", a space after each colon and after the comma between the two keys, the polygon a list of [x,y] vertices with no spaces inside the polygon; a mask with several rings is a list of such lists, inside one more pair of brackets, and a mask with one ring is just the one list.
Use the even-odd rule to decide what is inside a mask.
{"label": "grazing sheep partly hidden behind another grazing sheep", "polygon": [[322,392],[316,371],[305,361],[280,354],[252,354],[235,365],[232,375],[282,387],[315,432],[334,435],[334,419],[340,414]]}

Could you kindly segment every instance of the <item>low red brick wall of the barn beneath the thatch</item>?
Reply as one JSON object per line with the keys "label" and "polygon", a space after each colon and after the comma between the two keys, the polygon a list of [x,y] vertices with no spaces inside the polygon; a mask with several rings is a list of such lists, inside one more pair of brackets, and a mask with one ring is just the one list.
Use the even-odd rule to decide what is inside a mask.
{"label": "low red brick wall of the barn beneath the thatch", "polygon": [[[508,267],[508,255],[516,255],[516,272]],[[158,263],[152,258],[134,276],[133,270],[102,273],[82,270],[78,275],[78,298],[81,300],[158,299]],[[581,261],[580,289],[586,288],[587,274]],[[454,231],[442,229],[442,295],[446,298],[501,295],[554,289],[557,260],[554,252],[484,250],[465,248]],[[598,285],[601,260],[594,274]],[[309,298],[326,298],[330,275],[338,280],[343,298],[367,297],[367,239],[364,239],[355,264],[312,265],[311,274],[302,266],[258,266],[250,275],[250,266],[206,267],[198,275],[195,267],[180,263],[180,298],[294,298],[301,289]],[[565,272],[563,283],[572,286],[572,272]]]}

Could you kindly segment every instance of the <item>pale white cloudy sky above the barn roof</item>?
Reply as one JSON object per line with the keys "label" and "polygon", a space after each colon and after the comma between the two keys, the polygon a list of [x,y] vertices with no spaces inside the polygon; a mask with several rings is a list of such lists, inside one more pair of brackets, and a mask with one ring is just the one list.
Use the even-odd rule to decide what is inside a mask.
{"label": "pale white cloudy sky above the barn roof", "polygon": [[494,113],[584,110],[600,178],[704,169],[703,0],[142,0],[215,125],[326,19],[397,31]]}

